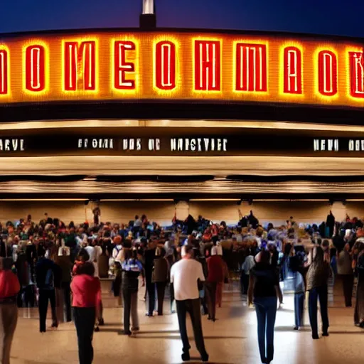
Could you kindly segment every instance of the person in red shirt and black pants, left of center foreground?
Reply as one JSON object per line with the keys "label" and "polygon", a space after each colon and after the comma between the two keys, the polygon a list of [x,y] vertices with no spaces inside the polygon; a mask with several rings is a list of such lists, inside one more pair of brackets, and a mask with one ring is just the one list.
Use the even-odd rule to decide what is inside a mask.
{"label": "person in red shirt and black pants, left of center foreground", "polygon": [[94,357],[92,338],[101,298],[100,279],[94,276],[94,264],[85,262],[77,269],[77,274],[71,283],[80,364],[91,364]]}

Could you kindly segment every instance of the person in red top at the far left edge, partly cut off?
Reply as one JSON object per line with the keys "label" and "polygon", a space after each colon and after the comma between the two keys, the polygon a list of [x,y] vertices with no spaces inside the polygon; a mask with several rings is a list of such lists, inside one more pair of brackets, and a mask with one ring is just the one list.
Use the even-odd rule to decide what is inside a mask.
{"label": "person in red top at the far left edge, partly cut off", "polygon": [[20,284],[11,272],[11,258],[0,258],[0,363],[10,363],[11,342],[18,322],[16,297]]}

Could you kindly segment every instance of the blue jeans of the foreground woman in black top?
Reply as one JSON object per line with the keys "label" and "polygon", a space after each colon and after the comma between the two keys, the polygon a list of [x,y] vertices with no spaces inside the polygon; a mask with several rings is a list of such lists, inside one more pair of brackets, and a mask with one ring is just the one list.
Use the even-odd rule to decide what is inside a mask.
{"label": "blue jeans of the foreground woman in black top", "polygon": [[258,321],[258,344],[262,363],[270,363],[274,355],[274,323],[277,297],[256,297],[254,300]]}

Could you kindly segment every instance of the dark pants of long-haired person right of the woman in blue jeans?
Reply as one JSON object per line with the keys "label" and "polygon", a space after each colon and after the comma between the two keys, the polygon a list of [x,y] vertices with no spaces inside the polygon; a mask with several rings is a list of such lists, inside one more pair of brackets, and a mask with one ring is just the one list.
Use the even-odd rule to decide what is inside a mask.
{"label": "dark pants of long-haired person right of the woman in blue jeans", "polygon": [[312,336],[318,336],[317,329],[317,299],[320,300],[322,331],[328,330],[327,286],[315,287],[309,291],[309,317]]}

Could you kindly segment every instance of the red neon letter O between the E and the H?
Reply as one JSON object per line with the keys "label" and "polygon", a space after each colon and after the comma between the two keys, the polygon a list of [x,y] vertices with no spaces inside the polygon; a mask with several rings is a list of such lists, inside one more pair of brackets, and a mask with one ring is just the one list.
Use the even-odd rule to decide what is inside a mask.
{"label": "red neon letter O between the E and the H", "polygon": [[176,45],[162,41],[156,44],[156,87],[173,90],[176,87]]}

